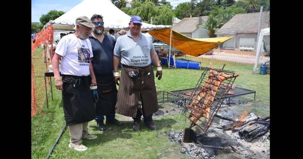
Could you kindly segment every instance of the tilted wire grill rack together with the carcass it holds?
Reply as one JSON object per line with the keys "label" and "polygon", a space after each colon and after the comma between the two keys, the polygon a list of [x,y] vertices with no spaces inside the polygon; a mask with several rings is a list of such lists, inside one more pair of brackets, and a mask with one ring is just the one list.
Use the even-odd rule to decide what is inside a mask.
{"label": "tilted wire grill rack together with the carcass it holds", "polygon": [[[221,82],[222,84],[224,83],[225,85],[232,85],[234,83],[235,81],[234,73],[217,70],[217,69],[212,69],[212,70],[217,71],[218,74],[220,72],[223,72],[225,75],[231,75],[231,78],[227,78],[225,81],[222,81]],[[187,99],[182,114],[191,121],[192,124],[190,127],[194,127],[195,125],[197,125],[201,129],[202,134],[204,134],[208,130],[208,127],[211,125],[212,120],[215,118],[215,115],[217,114],[219,108],[221,107],[222,102],[226,98],[227,93],[224,92],[228,92],[230,90],[230,87],[224,87],[221,84],[220,85],[214,84],[215,82],[218,82],[218,80],[217,78],[215,78],[215,76],[213,77],[209,76],[209,75],[215,75],[210,71],[211,68],[208,67],[205,68],[195,88],[170,92],[171,94]],[[208,78],[210,78],[211,80]],[[216,87],[218,87],[217,90],[215,89]],[[183,94],[184,92],[188,92],[188,91],[192,92],[189,98],[187,95]],[[199,93],[202,96],[200,96]],[[213,94],[215,94],[215,97],[213,96]],[[199,97],[201,97],[201,100],[199,100]],[[211,97],[214,99],[211,100]],[[193,106],[191,108],[187,107],[192,103]],[[209,108],[209,111],[207,108]],[[208,120],[206,120],[207,117],[205,114],[200,113],[202,110],[208,112],[209,114]],[[190,117],[190,118],[188,117],[190,114],[194,117],[201,115],[201,117],[198,118],[197,121],[194,121],[194,117]]]}

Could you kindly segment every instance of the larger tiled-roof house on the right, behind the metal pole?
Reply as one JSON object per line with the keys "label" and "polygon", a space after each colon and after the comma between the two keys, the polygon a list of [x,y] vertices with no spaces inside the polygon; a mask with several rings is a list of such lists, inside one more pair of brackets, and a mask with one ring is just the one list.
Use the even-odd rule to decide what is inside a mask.
{"label": "larger tiled-roof house on the right, behind the metal pole", "polygon": [[[269,11],[262,12],[261,29],[269,27]],[[235,50],[255,50],[260,12],[236,14],[215,34],[217,37],[237,36],[223,43],[223,48]],[[245,34],[245,35],[243,35]]]}

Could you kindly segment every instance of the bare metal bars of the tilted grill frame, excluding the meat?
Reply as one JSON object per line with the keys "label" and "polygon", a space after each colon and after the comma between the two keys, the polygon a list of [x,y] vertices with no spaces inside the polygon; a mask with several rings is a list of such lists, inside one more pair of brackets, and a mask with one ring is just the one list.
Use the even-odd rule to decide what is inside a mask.
{"label": "bare metal bars of the tilted grill frame, excluding the meat", "polygon": [[[223,73],[225,73],[226,75],[231,75],[231,76],[232,76],[231,78],[228,78],[228,79],[226,79],[225,81],[222,81],[221,83],[226,83],[227,85],[229,85],[229,84],[232,85],[232,84],[234,83],[235,78],[236,78],[236,77],[234,77],[235,73],[233,73],[233,72],[228,72],[228,71],[222,71],[222,70],[218,70],[218,69],[206,67],[205,70],[204,70],[204,72],[202,72],[201,77],[199,78],[199,80],[198,80],[198,82],[197,82],[197,84],[196,84],[194,90],[192,91],[193,93],[191,93],[191,96],[190,96],[189,98],[183,97],[183,98],[186,99],[186,104],[185,104],[185,106],[184,106],[184,108],[183,108],[182,114],[183,114],[186,118],[188,118],[188,115],[191,114],[191,110],[194,110],[195,113],[201,114],[200,112],[198,112],[197,110],[195,110],[195,108],[193,108],[193,107],[192,107],[192,108],[187,108],[186,105],[190,105],[190,104],[195,100],[194,96],[198,95],[198,94],[196,93],[196,91],[202,91],[200,88],[201,88],[201,87],[204,87],[204,84],[206,83],[206,80],[208,79],[208,75],[210,74],[210,70],[211,70],[211,69],[217,71],[218,73],[223,72]],[[211,79],[213,79],[213,78],[211,78]],[[204,80],[205,80],[205,81],[204,81]],[[216,80],[216,81],[218,81],[218,80]],[[226,81],[228,81],[228,82],[226,82]],[[206,116],[204,116],[203,114],[201,114],[201,117],[198,118],[198,121],[200,121],[201,124],[198,124],[198,123],[196,123],[195,121],[192,121],[191,118],[188,118],[190,121],[192,121],[192,122],[194,123],[193,126],[190,126],[190,127],[194,127],[195,125],[197,125],[197,126],[202,130],[202,131],[201,131],[201,134],[206,133],[206,131],[208,130],[209,126],[211,125],[211,122],[212,122],[213,119],[215,118],[215,115],[217,114],[219,108],[221,107],[221,104],[223,103],[224,99],[226,98],[227,93],[225,94],[224,92],[228,92],[228,91],[230,90],[230,87],[222,88],[222,87],[221,87],[221,83],[220,83],[220,85],[218,86],[218,89],[217,89],[217,91],[216,91],[216,95],[215,95],[215,97],[214,97],[214,100],[213,100],[213,101],[211,102],[211,104],[209,105],[210,111],[208,112],[208,113],[209,113],[209,117],[208,117],[209,120],[208,120],[208,122],[206,122]],[[211,83],[209,83],[209,84],[211,84]],[[214,85],[214,84],[212,84],[212,85]],[[200,87],[200,86],[201,86],[201,87]],[[215,86],[217,86],[217,85],[215,85]],[[192,88],[191,88],[191,89],[192,89]],[[190,90],[190,89],[186,89],[186,90]],[[214,90],[213,90],[213,91],[214,91]],[[202,92],[204,92],[204,91],[202,91]],[[178,94],[178,93],[176,93],[176,92],[170,92],[170,93],[175,94],[175,95]],[[205,92],[205,96],[206,96],[206,94],[209,94],[208,91]],[[209,94],[209,95],[211,95],[211,94]],[[180,96],[180,95],[178,95],[178,96]],[[211,95],[211,96],[212,96],[212,95]],[[200,96],[200,97],[201,97],[201,96]],[[203,99],[203,98],[204,98],[204,100],[208,100],[208,99],[206,99],[205,97],[201,97],[201,99]],[[204,100],[202,100],[202,101],[204,101]],[[201,102],[201,100],[200,100],[198,103],[199,103],[199,104],[202,104],[202,106],[205,105],[205,104],[203,104],[203,103]],[[196,104],[194,104],[194,105],[196,105]],[[196,106],[199,107],[198,105],[196,105]],[[199,107],[199,108],[201,108],[201,107]],[[188,110],[188,109],[190,109],[190,110]],[[204,108],[201,108],[201,109],[204,109]],[[205,110],[205,109],[204,109],[204,110]],[[205,111],[206,111],[206,110],[205,110]],[[192,114],[192,115],[195,116],[195,114]],[[205,118],[205,120],[202,121],[202,120],[201,120],[202,118]],[[198,122],[198,121],[197,121],[197,122]]]}

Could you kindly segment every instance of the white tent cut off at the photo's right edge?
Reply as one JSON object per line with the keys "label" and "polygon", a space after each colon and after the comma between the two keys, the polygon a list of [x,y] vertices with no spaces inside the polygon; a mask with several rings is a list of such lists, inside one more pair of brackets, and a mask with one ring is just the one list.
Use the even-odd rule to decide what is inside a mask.
{"label": "white tent cut off at the photo's right edge", "polygon": [[260,31],[260,35],[259,35],[259,39],[258,39],[258,45],[257,45],[257,55],[256,55],[256,62],[255,62],[255,66],[254,66],[254,71],[253,73],[255,73],[256,68],[258,66],[258,62],[259,62],[259,58],[260,58],[260,52],[261,52],[261,47],[263,47],[262,45],[262,41],[265,43],[265,45],[268,45],[268,51],[269,51],[269,45],[270,45],[270,29],[269,28],[265,28],[262,29]]}

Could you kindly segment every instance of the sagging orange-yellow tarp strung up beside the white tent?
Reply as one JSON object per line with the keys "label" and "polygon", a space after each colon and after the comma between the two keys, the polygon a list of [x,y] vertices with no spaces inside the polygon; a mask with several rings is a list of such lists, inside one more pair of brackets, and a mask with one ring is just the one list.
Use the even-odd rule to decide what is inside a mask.
{"label": "sagging orange-yellow tarp strung up beside the white tent", "polygon": [[[149,32],[149,34],[169,45],[170,28],[154,29]],[[171,47],[177,48],[187,55],[200,56],[233,37],[234,36],[220,38],[188,38],[187,36],[172,30]]]}

